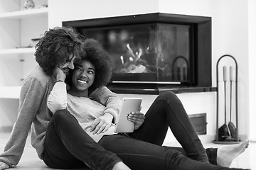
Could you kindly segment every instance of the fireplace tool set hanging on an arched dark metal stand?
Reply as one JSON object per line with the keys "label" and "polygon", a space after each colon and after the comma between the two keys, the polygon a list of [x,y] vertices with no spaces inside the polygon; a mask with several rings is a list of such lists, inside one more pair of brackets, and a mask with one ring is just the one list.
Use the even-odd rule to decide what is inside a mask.
{"label": "fireplace tool set hanging on an arched dark metal stand", "polygon": [[[223,64],[221,68],[220,61],[223,60],[223,58],[231,58],[233,64],[231,62],[228,63],[228,66]],[[217,125],[216,140],[213,142],[218,144],[235,144],[240,142],[238,139],[238,63],[235,57],[232,55],[221,56],[217,62],[216,72]],[[219,79],[221,74],[223,75],[223,79]],[[219,121],[222,118],[224,118],[224,123],[219,128]],[[227,118],[229,118],[228,124]],[[233,123],[234,120],[235,124]]]}

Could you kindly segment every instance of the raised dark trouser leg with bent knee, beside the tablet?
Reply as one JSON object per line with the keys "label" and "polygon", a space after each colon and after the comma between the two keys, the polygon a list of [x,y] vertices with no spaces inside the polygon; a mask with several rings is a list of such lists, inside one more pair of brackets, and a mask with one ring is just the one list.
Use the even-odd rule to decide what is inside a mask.
{"label": "raised dark trouser leg with bent knee, beside the tablet", "polygon": [[171,91],[160,94],[145,117],[142,127],[134,131],[131,137],[162,145],[169,127],[188,157],[208,162],[206,150],[176,94]]}

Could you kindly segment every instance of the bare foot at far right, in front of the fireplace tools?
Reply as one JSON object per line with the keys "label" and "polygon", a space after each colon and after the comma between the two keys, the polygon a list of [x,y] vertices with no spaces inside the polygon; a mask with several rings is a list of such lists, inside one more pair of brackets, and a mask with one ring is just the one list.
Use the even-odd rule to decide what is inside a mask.
{"label": "bare foot at far right, in front of the fireplace tools", "polygon": [[236,145],[220,147],[217,150],[217,164],[219,166],[230,167],[235,157],[242,154],[249,146],[249,140],[245,140]]}

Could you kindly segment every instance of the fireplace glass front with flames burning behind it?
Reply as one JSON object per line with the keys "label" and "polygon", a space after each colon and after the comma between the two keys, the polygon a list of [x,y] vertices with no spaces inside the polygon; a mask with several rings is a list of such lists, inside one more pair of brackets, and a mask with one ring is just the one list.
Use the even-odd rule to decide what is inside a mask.
{"label": "fireplace glass front with flames burning behind it", "polygon": [[193,42],[190,25],[149,23],[81,28],[99,40],[113,63],[112,82],[191,84]]}

